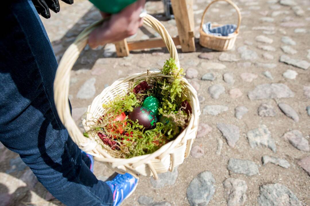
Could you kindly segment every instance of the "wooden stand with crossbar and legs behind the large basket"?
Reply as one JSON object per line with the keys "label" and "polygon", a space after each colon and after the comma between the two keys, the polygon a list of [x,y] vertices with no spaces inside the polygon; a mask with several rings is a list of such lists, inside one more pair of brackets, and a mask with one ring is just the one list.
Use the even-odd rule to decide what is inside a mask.
{"label": "wooden stand with crossbar and legs behind the large basket", "polygon": [[[194,52],[193,0],[171,0],[172,10],[179,36],[173,37],[175,45],[181,45],[182,52]],[[135,49],[165,47],[162,38],[127,42],[126,39],[114,43],[118,57],[126,57]]]}

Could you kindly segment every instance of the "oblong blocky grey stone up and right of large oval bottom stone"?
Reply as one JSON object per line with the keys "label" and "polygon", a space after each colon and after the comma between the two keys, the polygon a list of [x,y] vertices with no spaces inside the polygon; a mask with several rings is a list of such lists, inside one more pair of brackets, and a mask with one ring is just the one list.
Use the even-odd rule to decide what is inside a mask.
{"label": "oblong blocky grey stone up and right of large oval bottom stone", "polygon": [[237,174],[253,176],[259,173],[258,166],[250,160],[230,158],[227,169]]}

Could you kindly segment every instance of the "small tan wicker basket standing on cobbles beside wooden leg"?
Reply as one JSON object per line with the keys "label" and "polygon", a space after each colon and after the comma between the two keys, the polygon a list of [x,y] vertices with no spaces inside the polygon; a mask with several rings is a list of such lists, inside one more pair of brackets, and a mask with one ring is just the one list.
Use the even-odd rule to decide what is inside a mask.
{"label": "small tan wicker basket standing on cobbles beside wooden leg", "polygon": [[[237,28],[236,28],[236,31],[230,35],[230,36],[214,36],[214,35],[210,35],[210,34],[206,34],[206,32],[204,32],[202,30],[202,25],[203,25],[203,22],[204,22],[204,18],[205,18],[205,15],[206,15],[206,12],[208,10],[208,8],[211,6],[211,4],[213,4],[214,2],[217,2],[217,1],[226,1],[228,3],[230,3],[237,11],[237,14],[238,14],[238,25],[237,25]],[[203,12],[203,15],[202,15],[202,19],[201,19],[201,24],[200,24],[200,39],[199,39],[199,44],[203,47],[206,47],[206,48],[210,48],[210,49],[213,49],[213,50],[216,50],[216,51],[227,51],[227,50],[230,50],[233,48],[234,44],[235,44],[235,41],[237,39],[237,36],[239,34],[239,27],[240,27],[240,23],[241,23],[241,13],[240,13],[240,10],[238,8],[238,6],[230,1],[230,0],[214,0],[212,1],[205,9],[205,11]],[[212,23],[212,27],[218,27],[218,26],[221,26],[220,24],[215,24],[215,23]]]}

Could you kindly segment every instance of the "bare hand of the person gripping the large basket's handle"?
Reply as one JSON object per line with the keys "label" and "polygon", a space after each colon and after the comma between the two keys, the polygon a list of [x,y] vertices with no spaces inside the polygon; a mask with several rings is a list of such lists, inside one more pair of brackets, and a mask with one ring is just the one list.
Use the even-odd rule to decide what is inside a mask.
{"label": "bare hand of the person gripping the large basket's handle", "polygon": [[138,0],[117,14],[101,13],[103,18],[110,16],[100,27],[89,35],[88,44],[91,48],[112,43],[134,35],[142,26],[143,18],[139,15],[144,8],[145,0]]}

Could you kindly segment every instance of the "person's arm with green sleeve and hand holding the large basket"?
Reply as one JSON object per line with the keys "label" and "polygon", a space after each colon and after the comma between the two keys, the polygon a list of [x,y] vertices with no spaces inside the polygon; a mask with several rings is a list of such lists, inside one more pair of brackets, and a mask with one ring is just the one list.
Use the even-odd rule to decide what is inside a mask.
{"label": "person's arm with green sleeve and hand holding the large basket", "polygon": [[[142,26],[143,19],[140,17],[140,14],[144,8],[145,0],[90,1],[100,2],[98,6],[96,4],[95,6],[100,9],[103,18],[110,16],[108,21],[105,21],[100,27],[91,32],[88,40],[91,48],[123,40],[134,35],[138,28]],[[122,3],[117,6],[117,2]],[[133,3],[127,6],[130,2]],[[104,6],[106,7],[103,8]],[[123,8],[123,6],[126,7]],[[104,11],[108,11],[108,13]]]}

